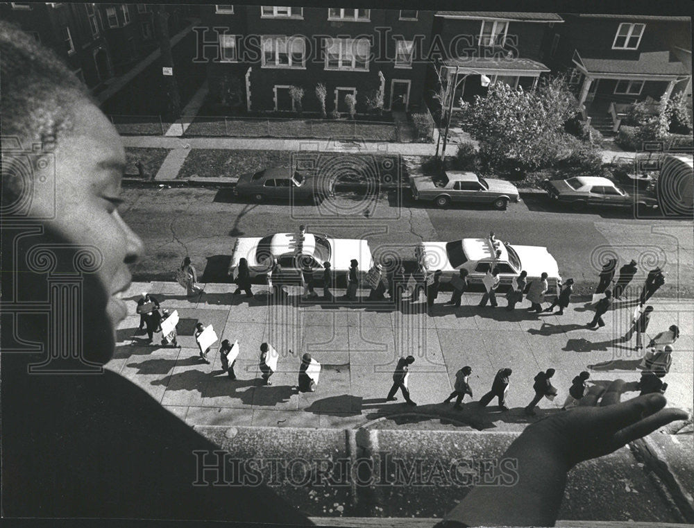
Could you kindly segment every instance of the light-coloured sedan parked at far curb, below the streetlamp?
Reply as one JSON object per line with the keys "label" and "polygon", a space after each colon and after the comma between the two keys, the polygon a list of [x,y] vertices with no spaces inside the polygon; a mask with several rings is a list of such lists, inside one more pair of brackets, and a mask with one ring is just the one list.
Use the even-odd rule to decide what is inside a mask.
{"label": "light-coloured sedan parked at far curb, below the streetlamp", "polygon": [[505,210],[509,202],[521,197],[512,183],[492,178],[480,178],[473,172],[444,171],[441,176],[410,176],[410,188],[415,200],[432,200],[438,207],[455,203],[489,203]]}

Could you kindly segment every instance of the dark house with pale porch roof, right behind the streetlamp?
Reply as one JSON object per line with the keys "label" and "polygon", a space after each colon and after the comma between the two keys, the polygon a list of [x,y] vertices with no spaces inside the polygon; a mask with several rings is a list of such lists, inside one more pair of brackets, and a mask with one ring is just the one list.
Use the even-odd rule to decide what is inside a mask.
{"label": "dark house with pale porch roof, right behind the streetlamp", "polygon": [[541,62],[548,31],[562,23],[556,13],[437,11],[432,56],[439,74],[430,70],[431,90],[436,90],[439,76],[450,80],[456,70],[455,107],[461,97],[471,101],[486,93],[482,75],[491,83],[505,81],[531,90],[541,74],[550,71]]}

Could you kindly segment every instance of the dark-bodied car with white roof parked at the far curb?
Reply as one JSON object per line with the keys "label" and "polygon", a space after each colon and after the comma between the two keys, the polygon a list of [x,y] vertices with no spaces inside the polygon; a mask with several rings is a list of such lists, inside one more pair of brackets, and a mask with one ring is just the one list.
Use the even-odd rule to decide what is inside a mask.
{"label": "dark-bodied car with white roof parked at the far curb", "polygon": [[582,211],[588,205],[605,207],[658,207],[652,191],[636,191],[629,194],[612,180],[598,176],[576,176],[568,180],[545,180],[543,188],[552,200],[565,203],[574,211]]}

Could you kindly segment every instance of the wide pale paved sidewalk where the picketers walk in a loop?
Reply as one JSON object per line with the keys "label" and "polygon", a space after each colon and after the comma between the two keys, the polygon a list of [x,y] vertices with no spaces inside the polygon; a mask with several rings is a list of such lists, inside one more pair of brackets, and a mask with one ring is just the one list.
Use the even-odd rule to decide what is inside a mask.
{"label": "wide pale paved sidewalk where the picketers walk in a loop", "polygon": [[[584,325],[592,312],[584,303],[574,303],[561,317],[534,316],[524,308],[509,314],[502,308],[480,309],[480,294],[466,293],[459,309],[437,304],[433,316],[427,316],[421,300],[400,309],[317,302],[268,305],[262,287],[248,303],[245,297],[231,295],[230,284],[203,286],[205,293],[188,299],[172,282],[134,283],[126,293],[131,313],[135,314],[140,291],[155,295],[162,307],[178,309],[183,318],[178,342],[183,348],[147,346],[146,334],[137,332],[139,316],[132,315],[119,327],[115,357],[107,366],[192,425],[349,428],[378,421],[375,427],[518,431],[529,420],[557,412],[570,380],[589,365],[602,364],[591,370],[596,384],[618,377],[636,382],[640,377],[636,365],[641,354],[632,350],[633,342],[618,341],[627,330],[630,307],[609,314],[601,330],[587,330]],[[291,293],[298,296],[300,291]],[[449,296],[442,293],[439,303]],[[691,413],[694,305],[652,304],[652,331],[677,324],[682,332],[667,377],[667,396],[670,404]],[[220,340],[238,339],[239,380],[229,380],[221,371],[219,345],[210,352],[211,364],[198,359],[192,337],[197,321],[212,324]],[[257,369],[263,341],[280,352],[272,386],[261,386]],[[157,336],[154,342],[159,342]],[[299,395],[294,386],[303,352],[320,361],[323,371],[317,391]],[[409,354],[417,358],[409,380],[412,398],[419,404],[414,408],[405,405],[401,395],[398,402],[384,400],[397,358]],[[441,404],[452,390],[456,371],[466,364],[473,367],[475,400],[489,390],[498,368],[514,369],[507,396],[510,412],[498,411],[496,400],[486,410],[467,404],[457,411]],[[538,417],[528,418],[523,407],[533,395],[532,378],[550,367],[557,369],[552,381],[559,397],[542,400]]]}

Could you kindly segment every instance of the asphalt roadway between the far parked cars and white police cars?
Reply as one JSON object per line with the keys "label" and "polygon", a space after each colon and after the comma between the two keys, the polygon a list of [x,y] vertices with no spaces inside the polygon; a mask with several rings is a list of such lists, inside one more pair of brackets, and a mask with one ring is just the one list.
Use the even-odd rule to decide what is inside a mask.
{"label": "asphalt roadway between the far parked cars and white police cars", "polygon": [[[407,191],[405,191],[407,193]],[[543,195],[527,195],[505,212],[484,207],[439,210],[408,194],[340,195],[320,206],[241,202],[231,189],[127,188],[121,215],[142,237],[146,255],[133,266],[136,278],[171,280],[183,255],[190,255],[209,282],[226,280],[236,237],[308,230],[332,237],[366,237],[373,253],[412,257],[418,241],[448,241],[496,232],[512,244],[547,246],[575,291],[589,293],[599,263],[614,253],[636,259],[640,287],[645,271],[668,273],[660,296],[694,296],[694,237],[691,222],[634,219],[626,211],[573,213],[552,209]],[[368,216],[367,216],[368,215]]]}

